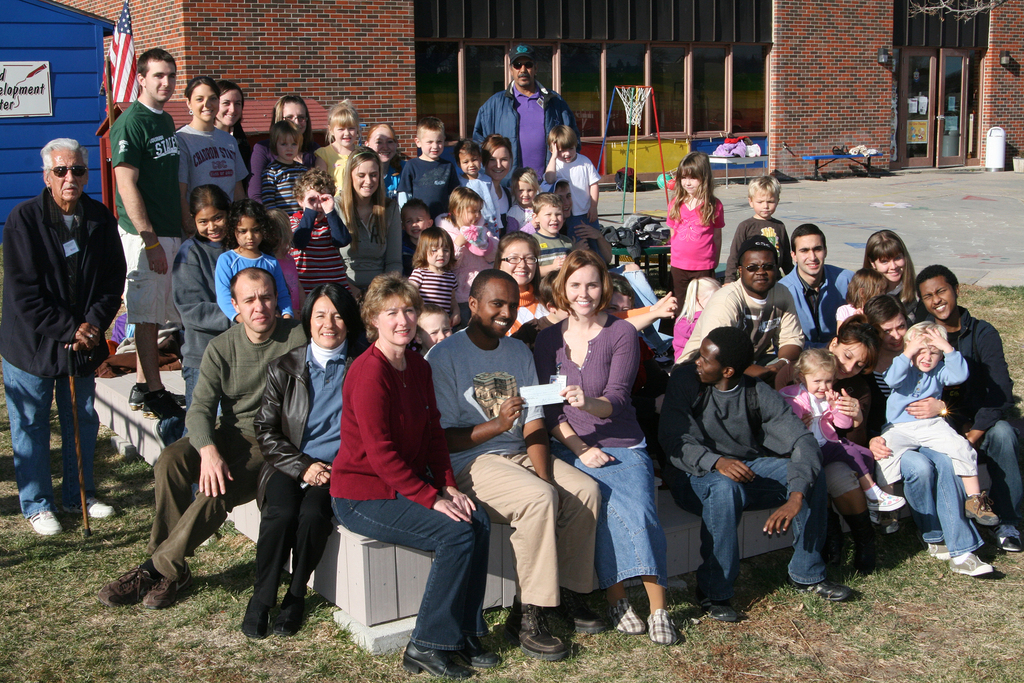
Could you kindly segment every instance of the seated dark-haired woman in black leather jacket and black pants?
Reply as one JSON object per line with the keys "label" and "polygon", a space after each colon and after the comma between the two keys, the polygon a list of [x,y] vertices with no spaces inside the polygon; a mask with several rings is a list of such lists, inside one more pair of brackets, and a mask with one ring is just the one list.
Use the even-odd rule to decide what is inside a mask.
{"label": "seated dark-haired woman in black leather jacket and black pants", "polygon": [[362,351],[362,323],[355,299],[334,283],[310,292],[301,318],[309,344],[270,361],[253,423],[264,464],[256,492],[261,513],[256,583],[242,621],[242,633],[249,638],[267,635],[289,553],[292,577],[273,633],[292,636],[299,630],[306,582],[334,528],[331,464],[340,441],[345,370]]}

